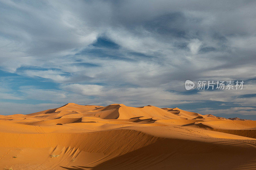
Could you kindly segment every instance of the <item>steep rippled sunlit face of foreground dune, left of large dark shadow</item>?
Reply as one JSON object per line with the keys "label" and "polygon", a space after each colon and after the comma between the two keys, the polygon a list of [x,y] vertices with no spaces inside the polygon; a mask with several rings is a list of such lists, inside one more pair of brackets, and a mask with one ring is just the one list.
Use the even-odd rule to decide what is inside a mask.
{"label": "steep rippled sunlit face of foreground dune, left of large dark shadow", "polygon": [[0,147],[46,148],[64,146],[79,148],[85,152],[104,154],[131,152],[159,140],[159,137],[124,129],[91,133],[0,133],[0,135],[2,137]]}

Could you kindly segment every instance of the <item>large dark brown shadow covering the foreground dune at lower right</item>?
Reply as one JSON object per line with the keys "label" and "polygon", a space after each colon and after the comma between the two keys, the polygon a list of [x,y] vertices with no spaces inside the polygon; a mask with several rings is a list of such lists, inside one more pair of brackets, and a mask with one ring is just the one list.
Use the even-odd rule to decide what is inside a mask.
{"label": "large dark brown shadow covering the foreground dune at lower right", "polygon": [[[241,151],[242,148],[241,146],[239,147],[239,151]],[[93,168],[83,168],[91,168],[93,170],[157,169],[157,167],[164,167],[161,169],[207,169],[211,166],[212,169],[221,169],[223,167],[231,169],[231,167],[237,167],[239,164],[241,165],[244,161],[240,161],[240,156],[237,156],[235,159],[227,159],[223,161],[223,159],[230,156],[228,152],[231,152],[235,148],[236,146],[233,144],[220,145],[218,143],[204,143],[181,139],[161,139],[135,151],[109,159]],[[211,154],[212,160],[204,159],[205,164],[202,164],[201,159],[209,156],[209,153],[212,152],[217,152],[217,154]],[[222,155],[222,157],[220,157],[220,155]],[[184,162],[187,161],[190,162],[190,164],[184,164]],[[218,164],[215,164],[214,162],[218,162]],[[249,166],[251,165],[248,165],[247,167]]]}

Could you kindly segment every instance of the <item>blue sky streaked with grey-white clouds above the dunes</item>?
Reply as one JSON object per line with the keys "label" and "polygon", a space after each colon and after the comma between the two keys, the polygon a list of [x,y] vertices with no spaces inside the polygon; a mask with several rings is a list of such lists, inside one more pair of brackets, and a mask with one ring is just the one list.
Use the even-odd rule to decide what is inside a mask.
{"label": "blue sky streaked with grey-white clouds above the dunes", "polygon": [[[0,114],[73,102],[256,120],[255,1],[0,0]],[[244,80],[190,90],[186,80]]]}

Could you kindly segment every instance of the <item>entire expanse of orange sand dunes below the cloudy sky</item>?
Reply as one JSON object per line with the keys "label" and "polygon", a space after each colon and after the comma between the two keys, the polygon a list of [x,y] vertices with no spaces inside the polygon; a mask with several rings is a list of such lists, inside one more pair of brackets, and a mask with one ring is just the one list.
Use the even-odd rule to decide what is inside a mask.
{"label": "entire expanse of orange sand dunes below the cloudy sky", "polygon": [[256,169],[256,121],[68,103],[0,115],[2,169]]}

